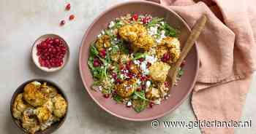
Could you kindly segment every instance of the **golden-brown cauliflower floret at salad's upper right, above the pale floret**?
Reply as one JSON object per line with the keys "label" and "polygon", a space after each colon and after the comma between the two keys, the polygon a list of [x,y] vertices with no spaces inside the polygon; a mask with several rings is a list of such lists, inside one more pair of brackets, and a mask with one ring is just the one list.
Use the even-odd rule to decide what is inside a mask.
{"label": "golden-brown cauliflower floret at salad's upper right, above the pale floret", "polygon": [[157,57],[162,58],[165,53],[170,54],[169,63],[175,63],[181,53],[180,42],[177,38],[167,36],[157,46]]}

